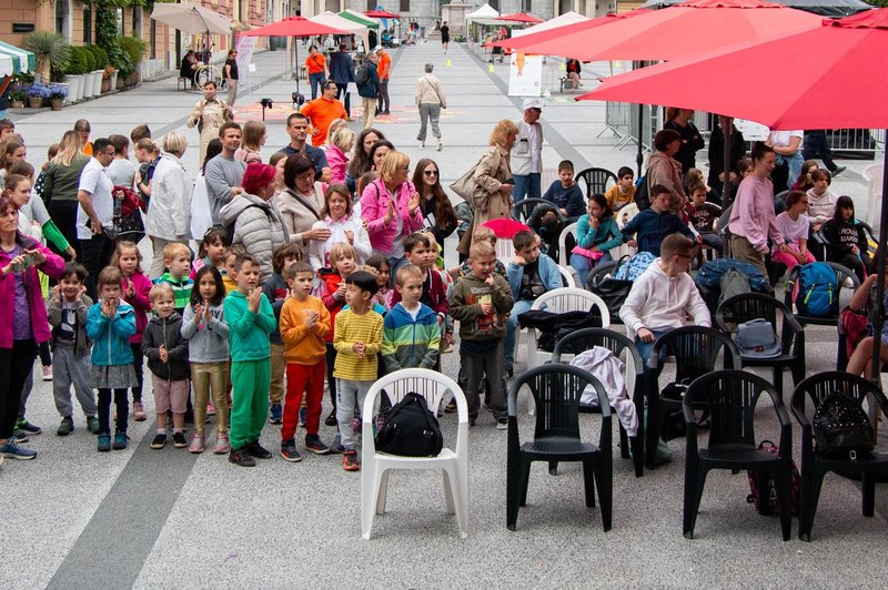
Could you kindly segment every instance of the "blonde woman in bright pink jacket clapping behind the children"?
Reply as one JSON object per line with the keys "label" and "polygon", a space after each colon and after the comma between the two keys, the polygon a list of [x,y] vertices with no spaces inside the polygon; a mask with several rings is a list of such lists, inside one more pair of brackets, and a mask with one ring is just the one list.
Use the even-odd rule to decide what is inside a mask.
{"label": "blonde woman in bright pink jacket clapping behind the children", "polygon": [[406,264],[404,238],[422,230],[420,193],[407,179],[410,157],[402,152],[385,154],[379,167],[380,177],[361,194],[361,216],[367,224],[374,254],[389,258],[392,282],[397,269]]}

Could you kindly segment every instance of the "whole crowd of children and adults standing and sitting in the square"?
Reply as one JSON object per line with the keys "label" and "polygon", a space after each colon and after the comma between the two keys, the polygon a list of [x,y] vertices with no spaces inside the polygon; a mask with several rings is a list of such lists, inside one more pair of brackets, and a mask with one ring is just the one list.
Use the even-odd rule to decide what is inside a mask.
{"label": "whole crowd of children and adults standing and sitting in the square", "polygon": [[[376,74],[376,58],[386,57],[379,53],[366,65]],[[147,125],[129,138],[90,140],[89,122],[80,120],[37,171],[27,162],[24,139],[0,122],[0,296],[8,314],[0,330],[0,456],[36,457],[24,444],[41,429],[28,421],[26,408],[31,362],[39,355],[44,378],[53,380],[57,434],[74,430],[73,386],[99,451],[125,448],[130,417],[148,419],[147,359],[157,420],[152,448],[163,448],[171,433],[175,447],[202,452],[211,446],[231,462],[251,466],[271,457],[259,442],[270,420],[282,424],[284,459],[301,460],[301,426],[304,450],[342,452],[343,468],[357,470],[356,417],[376,375],[440,368],[440,355],[457,342],[454,321],[470,421],[478,419],[485,380],[486,405],[505,429],[517,316],[563,284],[556,234],[541,231],[557,232],[547,225],[553,220],[577,222],[568,257],[581,284],[623,244],[652,255],[620,312],[644,354],[688,316],[708,325],[708,312],[683,278],[692,258],[700,258],[699,246],[719,253],[729,246],[735,258],[768,276],[766,260],[787,269],[816,260],[808,244],[817,234],[830,244],[828,260],[861,281],[870,272],[851,200],[830,192],[831,175],[815,161],[791,163],[797,135],[773,134],[746,157],[733,121],[719,118],[722,138],[729,133],[738,153],[731,150],[727,174],[710,170],[707,183],[695,167],[705,143],[693,112],[669,110],[638,182],[622,167],[606,194],[584,195],[573,163],[563,161],[544,193],[544,103],[528,99],[518,121],[494,126],[473,172],[466,217],[457,215],[434,160],[412,167],[405,153],[366,124],[377,96],[365,100],[364,129],[349,128],[349,110],[337,99],[343,87],[316,55],[307,59],[317,61],[319,71],[309,75],[323,74],[312,78],[322,95],[287,118],[290,143],[268,162],[265,123],[241,126],[231,105],[216,98],[215,83],[204,84],[186,121],[200,130],[196,181],[182,163],[189,146],[178,132],[160,145]],[[437,116],[446,101],[431,74],[428,64],[417,80],[417,139],[424,146],[431,119],[440,150]],[[382,80],[376,75],[384,113]],[[710,157],[719,155],[710,146]],[[791,190],[776,215],[773,176],[779,165],[788,174],[778,182]],[[722,191],[730,204],[726,228],[717,226]],[[525,197],[551,204],[537,207],[529,227],[513,232],[515,256],[500,261],[488,222],[509,218]],[[637,207],[632,216],[630,205]],[[457,227],[461,265],[446,269],[443,243]],[[150,262],[138,245],[143,236]],[[850,366],[864,370],[858,357],[866,349]],[[333,408],[324,421],[336,427],[330,445],[320,433],[324,389]],[[208,415],[216,416],[213,440]],[[194,424],[190,440],[186,421]]]}

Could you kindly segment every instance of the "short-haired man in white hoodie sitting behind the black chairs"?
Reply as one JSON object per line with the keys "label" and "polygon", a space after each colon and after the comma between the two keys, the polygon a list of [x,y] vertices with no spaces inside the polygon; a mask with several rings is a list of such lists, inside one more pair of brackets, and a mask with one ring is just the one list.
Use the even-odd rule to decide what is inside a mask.
{"label": "short-haired man in white hoodie sitting behind the black chairs", "polygon": [[619,318],[635,333],[635,344],[647,372],[654,343],[666,332],[682,327],[690,315],[697,326],[712,326],[709,308],[687,274],[694,242],[682,234],[667,235],[660,257],[633,284]]}

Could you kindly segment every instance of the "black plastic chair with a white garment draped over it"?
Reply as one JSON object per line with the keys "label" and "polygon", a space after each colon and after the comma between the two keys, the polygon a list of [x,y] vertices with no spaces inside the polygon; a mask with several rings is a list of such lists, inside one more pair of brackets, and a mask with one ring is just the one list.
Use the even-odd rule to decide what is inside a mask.
{"label": "black plastic chair with a white garment draped over it", "polygon": [[[624,459],[629,458],[629,447],[632,447],[633,464],[635,466],[635,477],[644,475],[644,367],[642,365],[642,355],[638,354],[635,343],[623,334],[616,333],[606,328],[584,328],[568,334],[567,336],[555,343],[555,349],[552,353],[553,363],[564,363],[563,355],[578,355],[595,346],[602,346],[610,350],[614,356],[619,357],[623,352],[626,352],[626,393],[629,399],[635,404],[635,411],[638,415],[638,434],[629,440],[626,429],[623,424],[617,420],[619,426],[619,456]],[[589,414],[601,414],[598,406],[588,406],[581,404],[579,411]],[[610,408],[610,414],[614,408]],[[554,475],[554,474],[553,474]]]}

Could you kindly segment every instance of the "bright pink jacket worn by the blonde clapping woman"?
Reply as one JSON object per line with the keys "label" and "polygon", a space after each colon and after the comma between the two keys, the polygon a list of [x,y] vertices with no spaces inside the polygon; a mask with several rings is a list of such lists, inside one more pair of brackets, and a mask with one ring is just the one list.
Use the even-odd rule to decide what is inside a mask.
{"label": "bright pink jacket worn by the blonde clapping woman", "polygon": [[[420,207],[416,207],[412,216],[407,211],[410,195],[415,191],[413,183],[407,181],[398,187],[397,195],[395,195],[395,217],[400,216],[403,220],[401,236],[404,237],[423,228],[423,213]],[[367,222],[370,245],[375,252],[392,252],[392,244],[398,237],[395,235],[397,220],[385,223],[389,201],[391,201],[389,189],[385,187],[382,179],[373,181],[361,194],[361,216]]]}

